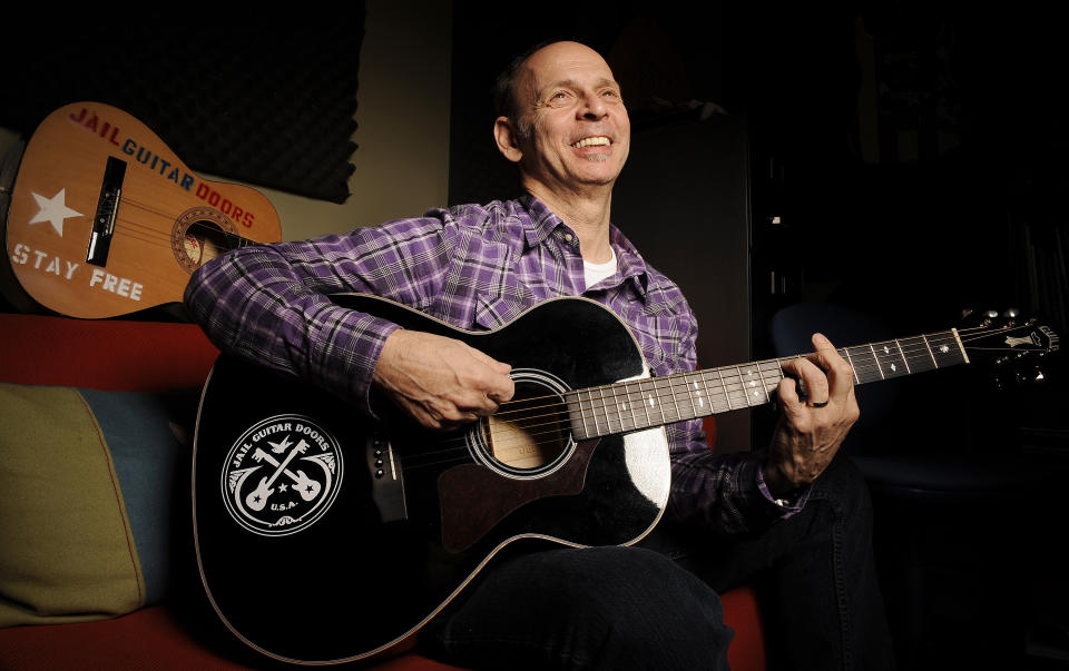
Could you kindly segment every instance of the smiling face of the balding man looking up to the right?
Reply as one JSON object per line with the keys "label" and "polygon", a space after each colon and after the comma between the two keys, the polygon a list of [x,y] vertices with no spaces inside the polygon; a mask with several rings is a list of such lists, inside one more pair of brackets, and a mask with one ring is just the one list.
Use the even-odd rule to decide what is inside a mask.
{"label": "smiling face of the balding man looking up to the right", "polygon": [[558,42],[534,52],[517,78],[520,170],[553,190],[616,181],[630,146],[620,87],[592,49]]}

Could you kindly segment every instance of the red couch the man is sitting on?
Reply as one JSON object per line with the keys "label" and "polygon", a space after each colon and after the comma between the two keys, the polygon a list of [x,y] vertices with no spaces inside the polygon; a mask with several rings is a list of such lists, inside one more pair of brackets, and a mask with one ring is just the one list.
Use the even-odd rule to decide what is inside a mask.
{"label": "red couch the man is sitting on", "polygon": [[[12,314],[0,314],[0,352],[3,383],[151,394],[186,389],[190,395],[217,355],[189,324]],[[133,499],[127,495],[126,505]],[[192,554],[192,543],[185,550]],[[245,669],[257,664],[214,622],[198,586],[197,582],[171,588],[160,602],[145,600],[144,605],[116,616],[75,616],[91,621],[0,629],[0,668]],[[0,593],[0,601],[7,598]],[[728,653],[732,668],[764,669],[764,638],[753,593],[734,590],[723,601],[725,620],[736,632]],[[410,652],[376,668],[452,667]]]}

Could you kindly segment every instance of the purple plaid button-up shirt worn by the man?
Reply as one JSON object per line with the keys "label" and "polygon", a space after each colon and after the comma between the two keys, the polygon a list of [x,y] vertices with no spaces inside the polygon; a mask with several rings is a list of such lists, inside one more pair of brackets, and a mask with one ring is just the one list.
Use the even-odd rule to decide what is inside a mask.
{"label": "purple plaid button-up shirt worn by the man", "polygon": [[[328,294],[373,294],[470,330],[501,326],[547,298],[582,295],[630,325],[655,374],[694,369],[697,323],[681,292],[616,227],[610,241],[617,273],[586,287],[578,237],[524,196],[433,209],[347,235],[248,247],[202,267],[185,299],[219,348],[316,381],[369,415],[371,376],[398,326],[335,306]],[[772,503],[757,455],[714,455],[700,421],[666,431],[669,517],[737,533],[796,510]]]}

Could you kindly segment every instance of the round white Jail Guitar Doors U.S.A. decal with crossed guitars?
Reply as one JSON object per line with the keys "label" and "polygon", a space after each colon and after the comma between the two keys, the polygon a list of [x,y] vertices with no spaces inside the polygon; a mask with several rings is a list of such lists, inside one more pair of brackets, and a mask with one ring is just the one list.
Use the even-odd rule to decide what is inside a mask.
{"label": "round white Jail Guitar Doors U.S.A. decal with crossed guitars", "polygon": [[342,484],[342,451],[311,418],[277,415],[234,443],[220,484],[227,511],[248,531],[297,533],[334,503]]}

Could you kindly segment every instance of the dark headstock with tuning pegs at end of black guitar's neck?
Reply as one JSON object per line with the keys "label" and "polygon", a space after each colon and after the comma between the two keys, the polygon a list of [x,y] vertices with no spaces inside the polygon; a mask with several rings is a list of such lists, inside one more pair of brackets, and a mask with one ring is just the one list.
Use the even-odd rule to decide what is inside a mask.
{"label": "dark headstock with tuning pegs at end of black guitar's neck", "polygon": [[998,386],[1046,381],[1041,362],[1060,349],[1053,328],[1016,309],[968,313],[958,335],[970,361],[1008,369],[1010,375],[998,376]]}

